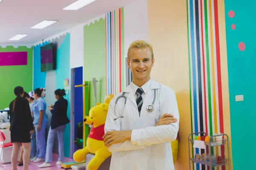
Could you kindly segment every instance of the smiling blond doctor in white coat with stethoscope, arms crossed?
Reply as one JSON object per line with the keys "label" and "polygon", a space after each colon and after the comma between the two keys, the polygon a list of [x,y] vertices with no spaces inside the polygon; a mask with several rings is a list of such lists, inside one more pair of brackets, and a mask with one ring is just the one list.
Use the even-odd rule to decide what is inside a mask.
{"label": "smiling blond doctor in white coat with stethoscope, arms crossed", "polygon": [[[133,81],[113,97],[105,122],[110,170],[174,170],[171,142],[180,118],[175,92],[151,79],[150,43],[132,42],[127,57]],[[161,76],[168,78],[164,68]]]}

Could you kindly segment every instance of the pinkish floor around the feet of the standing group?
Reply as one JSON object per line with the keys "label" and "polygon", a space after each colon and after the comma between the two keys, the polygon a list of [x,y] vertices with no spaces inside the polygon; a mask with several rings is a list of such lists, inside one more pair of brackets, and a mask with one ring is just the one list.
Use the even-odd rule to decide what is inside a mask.
{"label": "pinkish floor around the feet of the standing group", "polygon": [[[39,164],[42,164],[44,162],[39,162],[39,163],[34,163],[34,162],[30,162],[29,163],[29,170],[64,170],[63,168],[61,168],[61,165],[56,165],[56,162],[58,161],[58,155],[53,153],[52,156],[52,166],[51,167],[44,167],[44,168],[38,168],[37,166]],[[70,161],[74,161],[73,159],[70,158],[64,158],[63,162],[70,162]],[[8,163],[11,164],[11,163]],[[0,164],[0,165],[6,165],[6,164]],[[12,170],[12,166],[7,166],[7,167],[0,167],[0,170]],[[23,166],[18,167],[18,170],[23,170]]]}

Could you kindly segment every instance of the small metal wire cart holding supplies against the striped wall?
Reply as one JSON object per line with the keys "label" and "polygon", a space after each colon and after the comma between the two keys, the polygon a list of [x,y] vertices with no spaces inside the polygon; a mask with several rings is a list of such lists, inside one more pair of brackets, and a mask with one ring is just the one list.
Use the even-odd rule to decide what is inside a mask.
{"label": "small metal wire cart holding supplies against the striped wall", "polygon": [[[191,164],[194,165],[194,163],[203,164],[209,167],[218,167],[218,166],[225,166],[228,164],[229,170],[230,170],[230,150],[229,150],[229,139],[227,134],[220,134],[220,135],[213,135],[209,136],[209,142],[200,141],[201,146],[205,145],[204,149],[204,155],[194,154],[193,157],[191,157],[190,153],[190,145],[193,149],[194,144],[196,141],[194,136],[199,135],[200,136],[206,136],[205,132],[198,132],[198,133],[190,133],[188,136],[188,144],[189,144],[189,170],[191,170]],[[219,140],[221,139],[221,140]],[[198,142],[199,143],[199,142]],[[197,143],[197,144],[198,144]],[[217,159],[217,156],[213,156],[212,154],[212,147],[218,147],[218,146],[227,146],[227,158],[221,158]],[[197,146],[195,146],[197,147]],[[207,147],[208,147],[208,153],[207,153]],[[202,148],[201,148],[202,149]]]}

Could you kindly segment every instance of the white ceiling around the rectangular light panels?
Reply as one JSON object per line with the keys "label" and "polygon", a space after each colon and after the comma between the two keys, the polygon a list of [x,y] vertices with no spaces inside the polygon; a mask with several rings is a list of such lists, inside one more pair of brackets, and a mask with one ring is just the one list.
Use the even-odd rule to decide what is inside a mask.
{"label": "white ceiling around the rectangular light panels", "polygon": [[[76,1],[2,0],[0,44],[34,44],[136,0],[96,0],[76,11],[62,10]],[[58,20],[58,22],[44,29],[31,28],[43,20]],[[17,34],[28,34],[28,36],[18,41],[9,41]]]}

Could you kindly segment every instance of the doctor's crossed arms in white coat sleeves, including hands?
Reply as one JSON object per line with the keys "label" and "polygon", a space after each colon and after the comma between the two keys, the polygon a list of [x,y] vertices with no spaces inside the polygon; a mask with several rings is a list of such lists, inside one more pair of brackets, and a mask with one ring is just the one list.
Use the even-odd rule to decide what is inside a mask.
{"label": "doctor's crossed arms in white coat sleeves, including hands", "polygon": [[105,146],[108,147],[108,150],[110,152],[137,150],[143,149],[151,144],[174,141],[179,129],[179,112],[174,92],[172,91],[166,95],[166,99],[163,101],[163,105],[161,106],[163,108],[163,116],[154,127],[123,131],[120,129],[120,119],[113,120],[114,101],[112,101],[109,105],[105,123],[105,135],[103,136]]}

